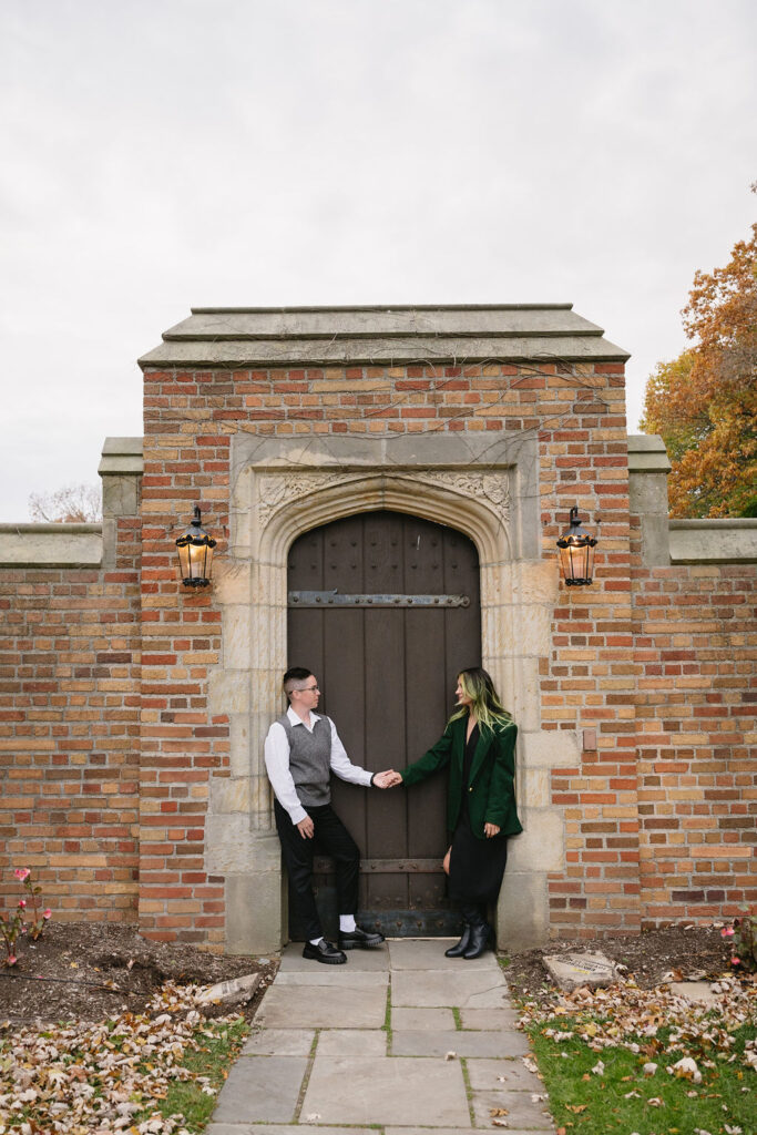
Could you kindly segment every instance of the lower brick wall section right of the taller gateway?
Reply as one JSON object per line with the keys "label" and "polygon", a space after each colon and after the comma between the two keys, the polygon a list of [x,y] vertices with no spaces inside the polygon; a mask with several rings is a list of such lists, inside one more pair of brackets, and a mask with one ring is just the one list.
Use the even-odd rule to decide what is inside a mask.
{"label": "lower brick wall section right of the taller gateway", "polygon": [[634,570],[644,925],[757,901],[755,568]]}

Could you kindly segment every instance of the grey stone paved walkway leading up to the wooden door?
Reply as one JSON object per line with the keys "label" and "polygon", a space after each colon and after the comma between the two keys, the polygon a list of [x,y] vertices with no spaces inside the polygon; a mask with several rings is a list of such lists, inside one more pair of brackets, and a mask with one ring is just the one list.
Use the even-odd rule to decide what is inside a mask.
{"label": "grey stone paved walkway leading up to the wooden door", "polygon": [[446,945],[397,939],[333,967],[287,947],[208,1135],[554,1133],[496,958]]}

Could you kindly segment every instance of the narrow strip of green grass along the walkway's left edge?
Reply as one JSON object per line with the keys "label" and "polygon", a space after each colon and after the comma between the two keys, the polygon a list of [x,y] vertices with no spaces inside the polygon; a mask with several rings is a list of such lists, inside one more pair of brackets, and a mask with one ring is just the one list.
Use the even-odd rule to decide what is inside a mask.
{"label": "narrow strip of green grass along the walkway's left edge", "polygon": [[[203,1029],[213,1035],[197,1037],[200,1050],[186,1054],[184,1067],[197,1076],[207,1076],[212,1087],[220,1088],[250,1033],[250,1025],[244,1017],[238,1017],[232,1024],[209,1020]],[[207,1095],[194,1081],[176,1081],[168,1088],[166,1099],[155,1103],[157,1107],[134,1117],[135,1127],[155,1110],[166,1118],[180,1111],[184,1126],[194,1135],[204,1129],[218,1103],[218,1095]]]}

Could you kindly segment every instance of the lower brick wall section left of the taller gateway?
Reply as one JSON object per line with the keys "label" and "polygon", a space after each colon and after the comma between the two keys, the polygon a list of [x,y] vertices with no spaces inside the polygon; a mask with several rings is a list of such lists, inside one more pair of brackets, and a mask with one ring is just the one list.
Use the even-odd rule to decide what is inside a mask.
{"label": "lower brick wall section left of the taller gateway", "polygon": [[138,537],[116,566],[0,571],[0,902],[31,867],[57,919],[134,922]]}

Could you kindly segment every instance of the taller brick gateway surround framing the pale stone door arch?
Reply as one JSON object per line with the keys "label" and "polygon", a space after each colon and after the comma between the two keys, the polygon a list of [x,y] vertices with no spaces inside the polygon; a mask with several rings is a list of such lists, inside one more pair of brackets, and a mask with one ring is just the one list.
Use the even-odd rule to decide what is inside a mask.
{"label": "taller brick gateway surround framing the pale stone door arch", "polygon": [[[597,586],[563,590],[544,659],[545,729],[596,731],[580,767],[555,775],[569,867],[553,878],[556,932],[639,925],[628,460],[621,364],[146,371],[143,480],[143,726],[140,914],[148,933],[224,936],[224,880],[202,869],[209,779],[228,775],[226,718],[207,708],[220,650],[209,594],[180,594],[174,540],[201,499],[228,533],[230,436],[395,435],[447,429],[537,435],[546,554],[572,504],[602,515]],[[224,553],[222,540],[218,553]]]}

